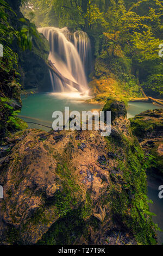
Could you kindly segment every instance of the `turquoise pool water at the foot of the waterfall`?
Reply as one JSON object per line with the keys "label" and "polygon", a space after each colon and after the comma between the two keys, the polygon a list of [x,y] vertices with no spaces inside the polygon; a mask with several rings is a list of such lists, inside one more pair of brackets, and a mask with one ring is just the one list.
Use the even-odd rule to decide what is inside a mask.
{"label": "turquoise pool water at the foot of the waterfall", "polygon": [[[52,127],[52,114],[54,111],[64,112],[65,107],[70,111],[90,111],[91,109],[102,109],[102,105],[85,103],[88,96],[79,93],[37,93],[22,99],[21,116],[24,121],[32,121]],[[147,102],[129,102],[127,117],[134,117],[147,109],[163,108]],[[38,128],[48,131],[46,127],[29,124],[29,128]]]}

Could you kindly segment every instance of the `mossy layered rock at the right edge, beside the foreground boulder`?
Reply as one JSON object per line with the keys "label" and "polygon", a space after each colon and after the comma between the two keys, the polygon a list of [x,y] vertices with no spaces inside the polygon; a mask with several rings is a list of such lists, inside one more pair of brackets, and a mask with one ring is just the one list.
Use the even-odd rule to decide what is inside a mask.
{"label": "mossy layered rock at the right edge, beside the foreground boulder", "polygon": [[147,110],[130,121],[142,149],[155,157],[151,171],[163,178],[163,109]]}

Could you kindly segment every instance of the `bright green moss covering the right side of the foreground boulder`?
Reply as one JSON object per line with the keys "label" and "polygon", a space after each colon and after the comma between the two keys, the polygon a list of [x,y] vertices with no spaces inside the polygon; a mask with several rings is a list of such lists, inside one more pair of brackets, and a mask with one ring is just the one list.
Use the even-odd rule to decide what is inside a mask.
{"label": "bright green moss covering the right side of the foreground boulder", "polygon": [[[149,210],[147,199],[146,159],[137,139],[129,139],[122,135],[126,161],[117,160],[120,173],[116,182],[109,187],[105,203],[111,202],[112,217],[114,221],[123,223],[134,234],[138,243],[151,245],[155,243],[153,222],[150,216],[143,214]],[[110,145],[110,140],[109,140]],[[114,147],[114,146],[112,146]],[[122,184],[118,188],[118,184]],[[143,209],[140,202],[143,201]]]}

